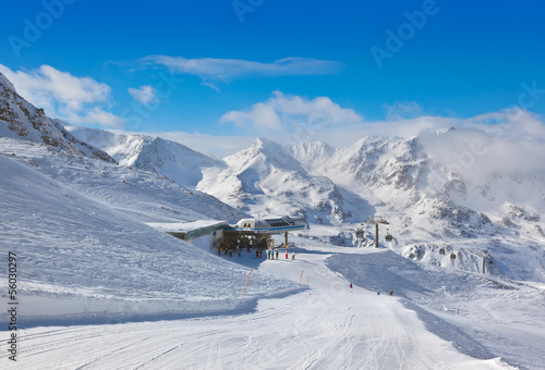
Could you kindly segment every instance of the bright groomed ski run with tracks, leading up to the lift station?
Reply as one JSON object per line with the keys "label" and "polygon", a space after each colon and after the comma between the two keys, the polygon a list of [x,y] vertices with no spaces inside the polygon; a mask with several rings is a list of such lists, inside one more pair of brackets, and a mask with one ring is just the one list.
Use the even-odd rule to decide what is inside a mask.
{"label": "bright groomed ski run with tracks, leading up to the lift station", "polygon": [[[526,332],[534,347],[506,361],[498,353],[510,343],[488,345],[464,330],[464,323],[476,324],[481,319],[471,318],[475,311],[462,309],[455,316],[452,310],[422,305],[414,298],[419,288],[413,286],[411,298],[407,284],[408,298],[387,292],[377,295],[358,285],[364,286],[355,271],[374,267],[376,281],[388,289],[397,288],[400,274],[383,263],[390,258],[388,250],[323,244],[294,250],[294,261],[282,254],[280,260],[255,259],[246,251],[242,258],[221,259],[294,284],[301,281],[308,289],[261,299],[255,309],[219,316],[28,328],[21,332],[20,362],[4,362],[2,369],[538,369],[545,365],[540,357],[545,344],[543,313],[534,317],[541,328]],[[338,269],[343,271],[334,271]],[[409,271],[415,286],[429,279],[417,269]],[[350,282],[355,282],[353,292]],[[439,294],[429,291],[428,296]],[[534,295],[543,303],[543,291]],[[450,296],[448,304],[455,301],[457,297]],[[517,305],[504,306],[510,313],[523,313]],[[512,333],[520,328],[514,324]],[[434,331],[447,332],[448,340]]]}

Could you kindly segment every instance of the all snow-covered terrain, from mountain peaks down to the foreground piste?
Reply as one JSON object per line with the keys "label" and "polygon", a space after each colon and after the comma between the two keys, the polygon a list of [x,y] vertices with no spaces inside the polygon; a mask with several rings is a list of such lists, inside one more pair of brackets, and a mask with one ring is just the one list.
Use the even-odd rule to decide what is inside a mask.
{"label": "all snow-covered terrain, from mountain peaks down to the foreground piste", "polygon": [[[16,255],[20,304],[17,362],[2,369],[545,366],[544,172],[484,160],[505,132],[256,139],[216,161],[50,120],[0,77],[0,250]],[[524,140],[516,158],[538,157]],[[312,226],[290,236],[293,259],[277,248],[272,260],[148,225],[247,213]],[[362,226],[377,214],[389,222],[378,249]]]}

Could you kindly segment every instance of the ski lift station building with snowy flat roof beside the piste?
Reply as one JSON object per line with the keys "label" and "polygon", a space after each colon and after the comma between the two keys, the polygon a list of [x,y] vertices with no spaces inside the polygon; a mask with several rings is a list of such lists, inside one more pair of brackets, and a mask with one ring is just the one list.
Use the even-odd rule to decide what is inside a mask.
{"label": "ski lift station building with snowy flat roof beside the piste", "polygon": [[220,245],[271,248],[275,234],[284,234],[287,245],[288,233],[308,230],[308,223],[302,217],[242,219],[234,225],[216,220],[147,224],[204,250],[218,248]]}

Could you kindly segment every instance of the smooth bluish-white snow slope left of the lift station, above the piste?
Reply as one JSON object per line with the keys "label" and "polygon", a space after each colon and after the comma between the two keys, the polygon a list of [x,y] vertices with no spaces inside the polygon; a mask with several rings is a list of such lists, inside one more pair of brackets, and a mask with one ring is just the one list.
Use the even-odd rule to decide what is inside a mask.
{"label": "smooth bluish-white snow slope left of the lift station, above the piste", "polygon": [[0,172],[0,249],[17,254],[26,324],[203,314],[298,289],[256,273],[240,299],[249,269],[146,226],[243,215],[157,174],[9,138]]}

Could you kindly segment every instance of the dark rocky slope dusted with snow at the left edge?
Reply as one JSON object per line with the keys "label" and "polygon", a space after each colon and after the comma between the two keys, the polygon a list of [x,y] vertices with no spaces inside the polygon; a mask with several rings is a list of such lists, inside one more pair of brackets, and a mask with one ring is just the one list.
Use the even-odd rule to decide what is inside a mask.
{"label": "dark rocky slope dusted with snow at the left edge", "polygon": [[114,162],[105,151],[76,139],[59,122],[49,119],[43,109],[37,109],[23,99],[1,73],[0,136],[45,144],[73,155]]}

